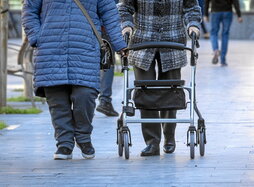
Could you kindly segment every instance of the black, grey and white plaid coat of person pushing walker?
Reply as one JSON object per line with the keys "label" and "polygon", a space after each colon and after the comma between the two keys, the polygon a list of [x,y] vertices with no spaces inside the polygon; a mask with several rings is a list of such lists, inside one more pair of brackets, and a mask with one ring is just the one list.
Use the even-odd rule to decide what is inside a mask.
{"label": "black, grey and white plaid coat of person pushing walker", "polygon": [[[170,41],[186,44],[186,27],[199,27],[201,12],[197,0],[120,0],[122,28],[134,29],[131,43]],[[130,51],[129,62],[148,70],[156,49]],[[162,71],[187,63],[185,51],[160,49]]]}

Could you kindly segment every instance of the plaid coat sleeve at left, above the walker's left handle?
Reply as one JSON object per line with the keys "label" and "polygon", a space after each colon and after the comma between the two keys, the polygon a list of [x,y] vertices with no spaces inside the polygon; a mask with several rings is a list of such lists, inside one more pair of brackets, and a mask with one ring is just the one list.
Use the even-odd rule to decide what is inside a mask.
{"label": "plaid coat sleeve at left, above the walker's left handle", "polygon": [[135,0],[120,0],[117,5],[121,17],[122,29],[125,27],[134,28],[133,14],[135,13]]}

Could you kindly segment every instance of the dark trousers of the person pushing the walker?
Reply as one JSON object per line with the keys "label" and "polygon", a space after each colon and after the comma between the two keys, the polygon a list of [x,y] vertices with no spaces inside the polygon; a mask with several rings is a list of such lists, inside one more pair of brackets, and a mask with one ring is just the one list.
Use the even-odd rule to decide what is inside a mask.
{"label": "dark trousers of the person pushing the walker", "polygon": [[[156,61],[158,65],[158,72],[156,72]],[[165,80],[165,79],[181,79],[181,69],[174,69],[167,72],[161,71],[160,55],[157,52],[154,61],[148,71],[144,71],[134,67],[134,74],[136,80]],[[176,111],[151,111],[140,110],[141,118],[176,118]],[[169,140],[174,136],[176,124],[175,123],[142,123],[142,133],[146,144],[160,144],[161,141],[161,126],[165,140]]]}

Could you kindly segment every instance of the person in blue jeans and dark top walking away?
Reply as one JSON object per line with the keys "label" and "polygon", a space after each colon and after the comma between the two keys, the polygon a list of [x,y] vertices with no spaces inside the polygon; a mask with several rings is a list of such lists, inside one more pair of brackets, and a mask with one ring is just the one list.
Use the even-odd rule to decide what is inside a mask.
{"label": "person in blue jeans and dark top walking away", "polygon": [[[241,17],[239,0],[205,0],[205,21],[209,21],[209,8],[211,5],[211,32],[210,38],[213,48],[212,63],[217,64],[219,62],[221,66],[227,66],[226,55],[228,51],[228,40],[230,34],[230,27],[233,20],[232,7],[234,6],[236,14],[238,16],[238,22],[243,21]],[[222,26],[221,32],[221,50],[219,50],[218,33]]]}

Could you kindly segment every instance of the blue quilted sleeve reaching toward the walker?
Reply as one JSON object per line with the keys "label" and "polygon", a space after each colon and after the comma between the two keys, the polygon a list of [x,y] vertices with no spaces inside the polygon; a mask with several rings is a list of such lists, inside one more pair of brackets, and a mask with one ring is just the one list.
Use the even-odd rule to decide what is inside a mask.
{"label": "blue quilted sleeve reaching toward the walker", "polygon": [[123,40],[120,17],[115,2],[112,0],[98,1],[98,12],[102,25],[105,27],[110,38],[110,43],[113,45],[113,49],[115,51],[120,51],[126,48],[127,45]]}

